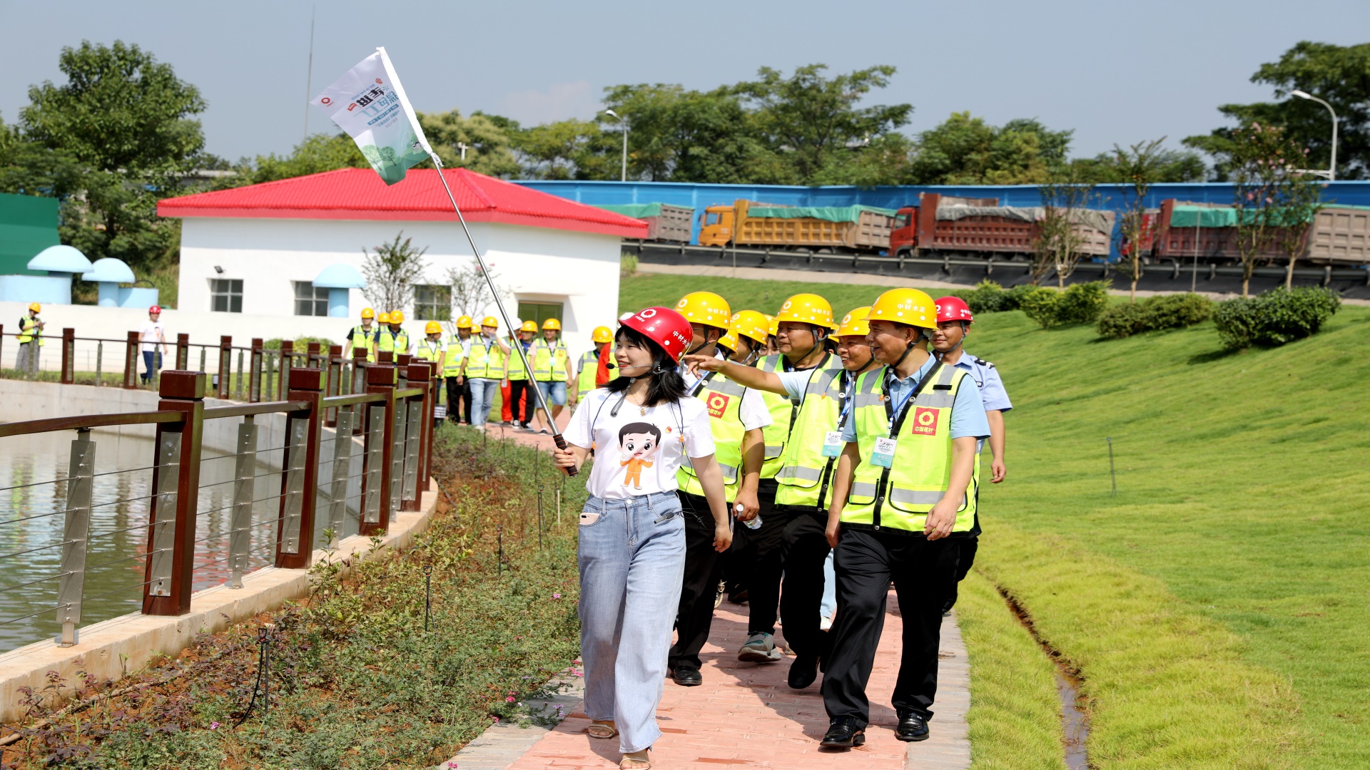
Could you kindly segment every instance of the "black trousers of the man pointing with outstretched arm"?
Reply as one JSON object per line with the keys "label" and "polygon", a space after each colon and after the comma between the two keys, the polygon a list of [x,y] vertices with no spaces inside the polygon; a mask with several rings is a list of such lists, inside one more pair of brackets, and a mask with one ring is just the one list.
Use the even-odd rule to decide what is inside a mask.
{"label": "black trousers of the man pointing with outstretched arm", "polygon": [[[777,512],[781,512],[777,510]],[[785,641],[800,656],[826,658],[830,638],[822,628],[823,562],[827,560],[827,514],[812,510],[784,511],[789,519],[781,543],[780,617]]]}

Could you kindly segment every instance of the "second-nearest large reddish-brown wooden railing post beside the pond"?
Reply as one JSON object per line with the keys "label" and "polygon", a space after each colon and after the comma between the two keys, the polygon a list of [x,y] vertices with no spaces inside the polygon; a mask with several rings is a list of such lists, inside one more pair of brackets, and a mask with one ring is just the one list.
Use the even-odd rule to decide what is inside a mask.
{"label": "second-nearest large reddish-brown wooden railing post beside the pond", "polygon": [[319,436],[322,433],[323,373],[292,369],[288,401],[308,401],[308,411],[285,418],[285,459],[281,460],[281,512],[277,523],[275,566],[301,570],[314,552],[314,508],[319,490]]}

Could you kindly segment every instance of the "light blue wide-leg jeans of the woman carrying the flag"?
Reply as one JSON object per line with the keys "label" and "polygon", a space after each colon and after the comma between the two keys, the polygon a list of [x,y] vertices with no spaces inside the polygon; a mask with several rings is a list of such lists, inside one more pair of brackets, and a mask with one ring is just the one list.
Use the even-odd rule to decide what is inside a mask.
{"label": "light blue wide-leg jeans of the woman carrying the flag", "polygon": [[662,737],[656,704],[685,578],[685,517],[674,492],[590,497],[581,508],[585,712],[612,719],[619,751]]}

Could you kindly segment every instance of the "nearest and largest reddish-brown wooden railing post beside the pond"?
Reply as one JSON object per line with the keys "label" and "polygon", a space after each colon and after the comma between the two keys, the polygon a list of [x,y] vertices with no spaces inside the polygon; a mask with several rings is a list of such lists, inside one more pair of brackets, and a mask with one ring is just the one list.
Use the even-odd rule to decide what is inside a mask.
{"label": "nearest and largest reddish-brown wooden railing post beside the pond", "polygon": [[142,588],[144,615],[184,615],[190,611],[200,444],[204,433],[204,380],[203,371],[162,373],[158,411],[178,411],[185,419],[158,425],[144,574],[147,585]]}

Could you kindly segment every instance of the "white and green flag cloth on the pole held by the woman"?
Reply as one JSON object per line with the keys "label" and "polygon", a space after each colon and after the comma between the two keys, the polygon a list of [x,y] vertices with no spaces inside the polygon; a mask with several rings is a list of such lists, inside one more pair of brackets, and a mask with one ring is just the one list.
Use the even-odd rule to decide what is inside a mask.
{"label": "white and green flag cloth on the pole held by the woman", "polygon": [[388,185],[403,179],[404,171],[433,152],[385,48],[377,48],[323,89],[314,104],[352,137]]}

